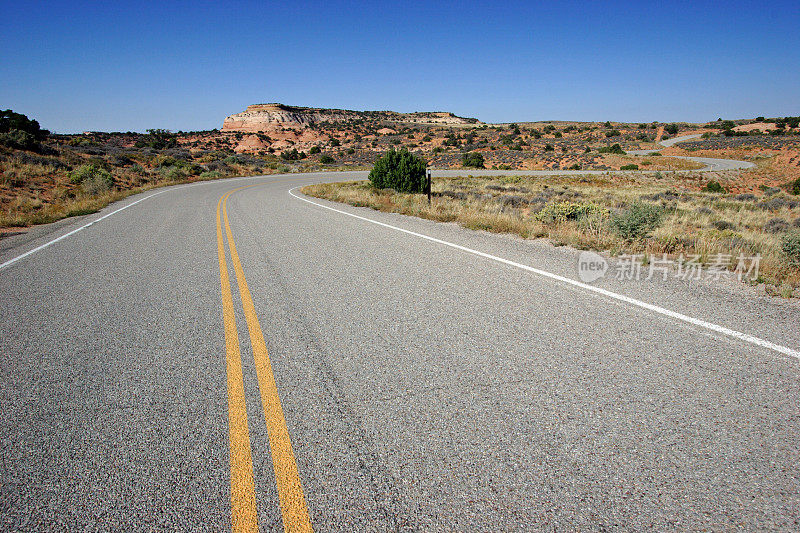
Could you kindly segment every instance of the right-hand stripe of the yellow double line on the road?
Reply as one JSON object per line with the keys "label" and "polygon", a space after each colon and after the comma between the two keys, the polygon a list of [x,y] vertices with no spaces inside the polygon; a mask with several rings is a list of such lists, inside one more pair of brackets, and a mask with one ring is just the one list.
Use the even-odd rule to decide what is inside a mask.
{"label": "right-hand stripe of the yellow double line on the road", "polygon": [[256,316],[253,298],[250,296],[250,289],[247,287],[247,280],[244,277],[242,264],[239,261],[239,254],[236,252],[236,244],[231,233],[231,226],[228,222],[227,203],[228,196],[231,193],[225,195],[222,201],[222,216],[225,219],[225,233],[228,236],[231,262],[233,263],[233,270],[236,272],[236,281],[239,283],[239,294],[242,296],[242,307],[244,308],[244,316],[247,319],[247,329],[250,332],[250,342],[253,347],[258,386],[261,391],[261,403],[264,408],[264,418],[267,422],[269,434],[272,466],[275,469],[275,481],[278,485],[283,529],[286,532],[310,532],[313,529],[308,514],[308,506],[303,495],[303,487],[300,485],[297,462],[292,451],[292,443],[289,440],[289,430],[286,427],[281,400],[278,397],[278,388],[275,384],[275,376],[272,373],[267,345],[264,342],[264,333],[261,331],[261,325]]}

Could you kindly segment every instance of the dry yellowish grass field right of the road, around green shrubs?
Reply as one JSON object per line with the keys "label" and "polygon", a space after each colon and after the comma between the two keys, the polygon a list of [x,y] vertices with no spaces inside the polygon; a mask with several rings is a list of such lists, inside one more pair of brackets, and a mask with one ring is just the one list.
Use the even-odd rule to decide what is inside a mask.
{"label": "dry yellowish grass field right of the road, around green shrubs", "polygon": [[[310,185],[302,192],[354,206],[523,238],[544,237],[554,244],[612,254],[667,254],[673,258],[697,254],[704,263],[727,254],[732,256],[731,268],[739,254],[760,254],[758,281],[766,282],[768,290],[776,294],[791,295],[800,286],[800,269],[791,266],[781,251],[782,232],[768,229],[773,219],[785,221],[789,230],[798,228],[800,198],[786,193],[737,198],[698,191],[698,184],[707,179],[695,173],[435,178],[430,205],[424,195],[375,190],[365,181]],[[727,185],[736,182],[736,174],[722,173],[715,179]],[[567,201],[596,204],[612,214],[644,202],[661,206],[664,216],[658,228],[636,240],[625,240],[612,231],[607,215],[550,223],[537,218],[543,206]],[[798,205],[793,207],[793,201]]]}

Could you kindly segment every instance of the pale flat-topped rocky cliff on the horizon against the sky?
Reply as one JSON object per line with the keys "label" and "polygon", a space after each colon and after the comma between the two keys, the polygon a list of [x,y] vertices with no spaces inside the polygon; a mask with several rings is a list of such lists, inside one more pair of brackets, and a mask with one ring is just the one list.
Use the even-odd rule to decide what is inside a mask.
{"label": "pale flat-topped rocky cliff on the horizon against the sky", "polygon": [[322,122],[349,122],[372,120],[407,124],[480,124],[477,119],[463,118],[453,113],[396,113],[394,111],[349,111],[346,109],[321,109],[294,107],[283,104],[256,104],[247,106],[222,123],[224,131],[269,131],[276,127],[309,127]]}

